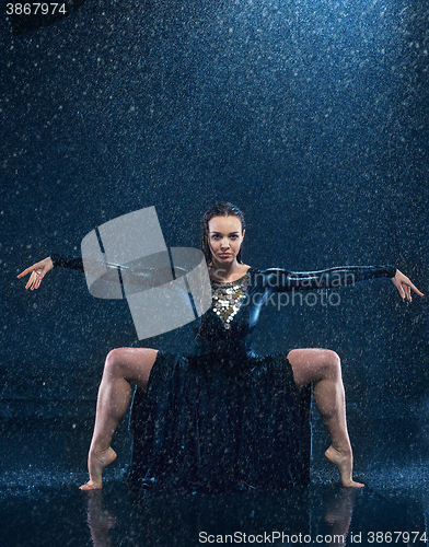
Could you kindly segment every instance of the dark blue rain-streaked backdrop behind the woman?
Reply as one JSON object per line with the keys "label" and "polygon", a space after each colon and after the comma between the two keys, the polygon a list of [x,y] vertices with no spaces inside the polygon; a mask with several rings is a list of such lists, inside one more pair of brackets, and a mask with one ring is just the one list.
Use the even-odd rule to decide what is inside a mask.
{"label": "dark blue rain-streaked backdrop behind the woman", "polygon": [[[424,5],[88,0],[13,36],[2,4],[0,415],[92,401],[112,348],[192,348],[189,325],[138,342],[126,303],[93,299],[80,272],[35,292],[15,279],[136,209],[155,206],[169,246],[198,246],[201,213],[228,199],[247,264],[393,264],[427,292]],[[427,300],[403,304],[386,279],[339,294],[267,306],[255,349],[336,350],[355,444],[387,422],[383,442],[425,459]]]}

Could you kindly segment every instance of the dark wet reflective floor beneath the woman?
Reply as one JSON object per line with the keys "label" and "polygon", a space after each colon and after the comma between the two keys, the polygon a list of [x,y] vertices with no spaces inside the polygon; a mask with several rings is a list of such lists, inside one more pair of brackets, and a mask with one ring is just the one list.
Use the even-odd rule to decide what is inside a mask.
{"label": "dark wet reflective floor beneath the woman", "polygon": [[26,478],[39,486],[20,485],[1,500],[3,547],[213,543],[339,547],[387,545],[390,537],[396,545],[428,545],[420,503],[389,500],[370,488],[321,484],[279,493],[151,493],[131,492],[117,477],[103,490],[81,492],[77,485],[83,477],[78,474],[57,477],[57,485],[50,477],[48,487],[40,485],[42,477]]}

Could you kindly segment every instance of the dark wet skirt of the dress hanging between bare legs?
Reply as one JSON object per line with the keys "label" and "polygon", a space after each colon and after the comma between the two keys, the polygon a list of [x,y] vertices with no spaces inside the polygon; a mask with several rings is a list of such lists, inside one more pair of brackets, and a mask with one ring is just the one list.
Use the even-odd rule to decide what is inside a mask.
{"label": "dark wet skirt of the dress hanging between bare legs", "polygon": [[298,389],[287,353],[233,359],[159,351],[137,389],[131,486],[285,490],[310,481],[311,386]]}

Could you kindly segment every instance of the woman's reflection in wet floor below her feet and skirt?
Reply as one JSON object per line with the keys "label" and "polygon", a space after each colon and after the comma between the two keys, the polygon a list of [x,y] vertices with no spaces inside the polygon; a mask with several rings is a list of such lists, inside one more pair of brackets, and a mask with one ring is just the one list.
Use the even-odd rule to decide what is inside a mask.
{"label": "woman's reflection in wet floor below her feet and skirt", "polygon": [[[131,494],[131,537],[136,545],[198,545],[204,543],[309,543],[313,534],[324,545],[346,545],[357,491],[344,488],[331,492],[317,508],[322,525],[315,532],[312,520],[313,489],[277,494],[247,492],[221,494]],[[104,492],[88,497],[88,522],[94,546],[127,545],[114,531],[117,516],[107,510]],[[118,526],[117,526],[118,527]],[[112,534],[111,534],[112,528]],[[314,529],[313,529],[314,528]],[[115,539],[114,539],[115,537]],[[232,538],[234,542],[232,542]],[[301,542],[299,540],[301,538]],[[322,542],[321,542],[322,543]]]}

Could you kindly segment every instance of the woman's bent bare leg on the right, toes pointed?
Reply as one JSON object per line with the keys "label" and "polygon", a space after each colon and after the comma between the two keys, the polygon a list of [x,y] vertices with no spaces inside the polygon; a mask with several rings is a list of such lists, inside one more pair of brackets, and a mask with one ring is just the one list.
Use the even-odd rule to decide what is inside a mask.
{"label": "woman's bent bare leg on the right, toes pointed", "polygon": [[332,442],[325,456],[337,466],[343,486],[364,486],[352,479],[353,455],[347,431],[339,357],[327,349],[293,349],[289,352],[288,360],[298,387],[314,383],[314,403]]}

